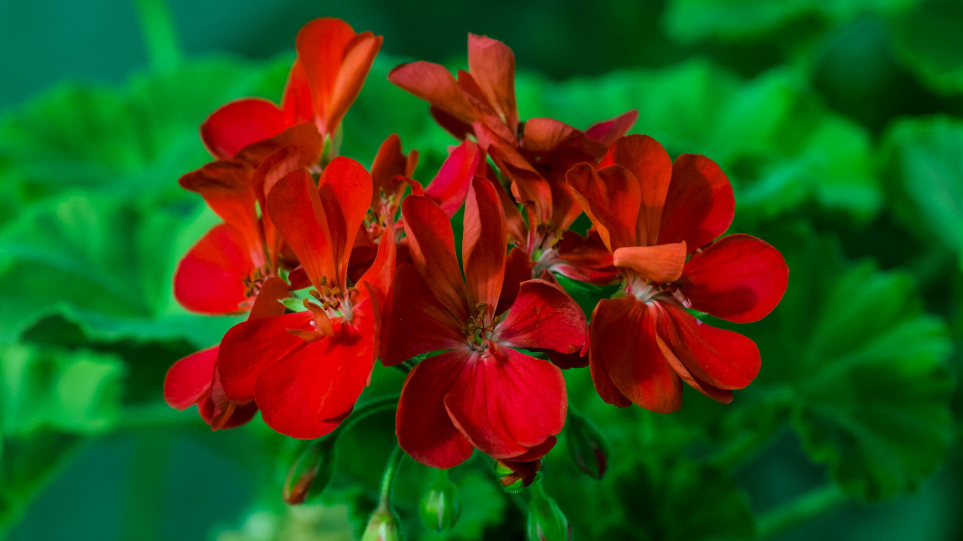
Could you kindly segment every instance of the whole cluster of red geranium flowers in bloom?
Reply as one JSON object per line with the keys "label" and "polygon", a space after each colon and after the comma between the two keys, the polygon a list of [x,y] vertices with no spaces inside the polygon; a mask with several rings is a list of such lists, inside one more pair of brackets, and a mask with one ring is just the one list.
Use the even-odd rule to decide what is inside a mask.
{"label": "whole cluster of red geranium flowers in bloom", "polygon": [[[223,221],[184,256],[174,293],[247,321],[171,367],[171,406],[197,404],[213,429],[260,410],[280,433],[319,438],[350,418],[379,359],[410,369],[403,451],[444,469],[479,450],[517,474],[537,471],[565,425],[562,369],[587,366],[605,401],[663,413],[683,382],[728,402],[752,381],[755,344],[694,314],[757,321],[789,270],[755,237],[720,238],[735,199],[714,162],[626,136],[634,111],[585,130],[523,120],[512,51],[469,35],[467,71],[388,75],[458,142],[434,178],[412,178],[418,153],[397,135],[366,168],[338,156],[340,125],[380,45],[313,20],[279,106],[240,99],[200,126],[214,161],[179,182]],[[583,213],[584,235],[570,229]],[[588,319],[557,275],[620,287]]]}

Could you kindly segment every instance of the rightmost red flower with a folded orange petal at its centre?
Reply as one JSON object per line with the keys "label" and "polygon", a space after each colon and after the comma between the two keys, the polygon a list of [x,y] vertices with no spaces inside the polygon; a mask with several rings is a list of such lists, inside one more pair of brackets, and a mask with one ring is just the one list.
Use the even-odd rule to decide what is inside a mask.
{"label": "rightmost red flower with a folded orange petal at its centre", "polygon": [[599,396],[657,412],[682,405],[682,382],[732,400],[759,373],[759,349],[710,326],[691,307],[730,322],[764,318],[786,292],[789,269],[771,245],[729,235],[732,187],[705,156],[675,163],[645,136],[615,142],[598,165],[568,182],[621,271],[624,296],[592,312],[588,362]]}

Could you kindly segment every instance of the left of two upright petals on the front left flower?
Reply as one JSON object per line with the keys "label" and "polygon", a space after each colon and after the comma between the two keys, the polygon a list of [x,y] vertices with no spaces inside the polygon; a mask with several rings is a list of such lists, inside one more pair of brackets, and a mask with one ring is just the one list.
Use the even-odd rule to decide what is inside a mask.
{"label": "left of two upright petals on the front left flower", "polygon": [[323,276],[333,281],[338,275],[325,210],[304,167],[281,177],[268,193],[268,214],[316,288]]}

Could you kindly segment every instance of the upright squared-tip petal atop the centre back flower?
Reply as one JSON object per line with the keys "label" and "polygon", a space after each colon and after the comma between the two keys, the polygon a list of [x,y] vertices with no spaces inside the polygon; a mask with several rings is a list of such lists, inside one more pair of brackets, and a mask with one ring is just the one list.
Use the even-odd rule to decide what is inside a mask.
{"label": "upright squared-tip petal atop the centre back flower", "polygon": [[486,36],[468,35],[468,69],[508,129],[518,127],[515,105],[515,54],[508,45]]}

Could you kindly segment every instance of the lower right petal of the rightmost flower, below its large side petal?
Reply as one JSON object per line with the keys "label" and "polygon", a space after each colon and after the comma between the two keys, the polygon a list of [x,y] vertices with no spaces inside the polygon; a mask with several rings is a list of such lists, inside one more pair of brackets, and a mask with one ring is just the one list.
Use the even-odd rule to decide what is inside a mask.
{"label": "lower right petal of the rightmost flower, below its large side petal", "polygon": [[690,374],[719,389],[742,389],[759,374],[753,341],[697,320],[674,301],[657,304],[669,320],[666,345]]}

